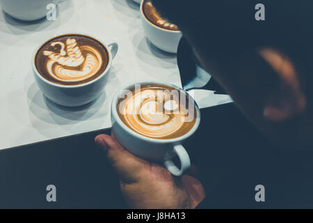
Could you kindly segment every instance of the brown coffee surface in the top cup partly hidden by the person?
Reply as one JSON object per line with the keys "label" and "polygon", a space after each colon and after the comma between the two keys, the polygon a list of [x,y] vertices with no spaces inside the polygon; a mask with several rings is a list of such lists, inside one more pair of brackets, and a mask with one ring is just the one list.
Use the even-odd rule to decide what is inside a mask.
{"label": "brown coffee surface in the top cup partly hidden by the person", "polygon": [[147,20],[149,20],[156,26],[172,31],[179,31],[178,27],[175,24],[168,22],[159,15],[157,9],[154,8],[154,6],[152,5],[151,0],[145,0],[143,2],[143,13],[145,14]]}

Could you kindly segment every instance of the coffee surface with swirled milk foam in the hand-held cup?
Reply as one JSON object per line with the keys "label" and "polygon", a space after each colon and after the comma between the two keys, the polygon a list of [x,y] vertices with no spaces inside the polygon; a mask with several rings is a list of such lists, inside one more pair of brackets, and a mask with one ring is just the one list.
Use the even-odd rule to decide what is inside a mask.
{"label": "coffee surface with swirled milk foam in the hand-held cup", "polygon": [[197,116],[193,100],[165,85],[145,85],[120,99],[118,116],[131,130],[154,139],[175,139],[189,132]]}

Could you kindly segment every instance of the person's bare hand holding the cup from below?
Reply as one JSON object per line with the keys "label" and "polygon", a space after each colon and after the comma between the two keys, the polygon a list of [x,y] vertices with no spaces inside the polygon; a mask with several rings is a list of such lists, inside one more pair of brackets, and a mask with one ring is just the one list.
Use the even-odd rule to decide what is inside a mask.
{"label": "person's bare hand holding the cup from below", "polygon": [[181,177],[172,176],[159,164],[129,153],[115,139],[99,134],[95,138],[120,177],[120,188],[131,208],[195,208],[205,197],[200,181],[191,171]]}

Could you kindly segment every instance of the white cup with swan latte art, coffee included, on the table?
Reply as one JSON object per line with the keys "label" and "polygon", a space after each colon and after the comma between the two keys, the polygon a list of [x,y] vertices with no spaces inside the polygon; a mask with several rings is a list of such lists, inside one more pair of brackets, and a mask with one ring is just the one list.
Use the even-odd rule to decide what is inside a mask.
{"label": "white cup with swan latte art, coffee included, on the table", "polygon": [[117,52],[114,40],[102,42],[80,33],[54,36],[35,49],[35,81],[42,93],[58,105],[85,105],[102,93],[104,77]]}

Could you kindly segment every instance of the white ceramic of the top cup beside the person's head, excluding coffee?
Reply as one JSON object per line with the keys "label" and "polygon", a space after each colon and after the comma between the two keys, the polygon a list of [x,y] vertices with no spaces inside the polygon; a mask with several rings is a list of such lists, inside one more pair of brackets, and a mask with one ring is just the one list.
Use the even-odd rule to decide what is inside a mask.
{"label": "white ceramic of the top cup beside the person's head, excluding coffee", "polygon": [[182,32],[163,29],[150,22],[143,13],[144,2],[145,0],[141,1],[141,24],[143,25],[145,36],[159,49],[176,54],[179,40],[182,38]]}

